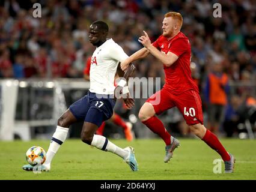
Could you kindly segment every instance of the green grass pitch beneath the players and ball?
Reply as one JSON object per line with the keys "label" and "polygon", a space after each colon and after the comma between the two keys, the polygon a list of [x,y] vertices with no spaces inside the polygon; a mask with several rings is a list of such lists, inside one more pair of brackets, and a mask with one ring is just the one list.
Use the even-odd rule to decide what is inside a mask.
{"label": "green grass pitch beneath the players and ball", "polygon": [[122,148],[135,148],[138,172],[132,172],[117,155],[72,139],[61,146],[53,158],[50,172],[25,172],[22,166],[26,164],[26,150],[33,145],[45,150],[49,146],[47,140],[31,140],[0,142],[0,179],[256,179],[256,140],[221,139],[225,148],[236,157],[232,174],[223,173],[223,162],[223,174],[213,173],[213,160],[221,157],[200,139],[180,139],[181,146],[175,149],[169,163],[163,163],[165,145],[160,139],[111,141]]}

